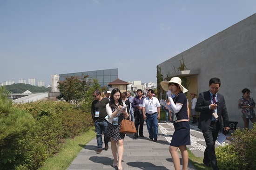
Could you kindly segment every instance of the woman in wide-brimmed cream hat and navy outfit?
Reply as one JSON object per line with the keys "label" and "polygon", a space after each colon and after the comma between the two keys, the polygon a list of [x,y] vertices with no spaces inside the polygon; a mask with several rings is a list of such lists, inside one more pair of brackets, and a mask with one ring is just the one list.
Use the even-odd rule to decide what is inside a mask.
{"label": "woman in wide-brimmed cream hat and navy outfit", "polygon": [[[182,80],[179,77],[173,77],[169,82],[161,82],[161,86],[165,91],[168,91],[168,100],[171,103],[169,108],[174,113],[175,132],[169,147],[173,164],[175,170],[180,170],[180,157],[177,152],[180,149],[182,153],[182,170],[187,170],[189,163],[187,145],[190,145],[190,126],[187,97],[184,93],[188,92],[188,90],[182,86]],[[175,94],[174,99],[171,97],[172,94]],[[166,105],[166,102],[163,100],[160,103],[164,106]]]}

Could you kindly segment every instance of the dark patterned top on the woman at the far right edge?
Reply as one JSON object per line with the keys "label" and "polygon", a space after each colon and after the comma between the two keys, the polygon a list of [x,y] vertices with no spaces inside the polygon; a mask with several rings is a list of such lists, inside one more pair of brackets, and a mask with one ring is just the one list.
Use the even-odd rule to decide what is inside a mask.
{"label": "dark patterned top on the woman at the far right edge", "polygon": [[[249,100],[246,100],[243,96],[238,101],[238,108],[242,108],[243,106],[252,106],[254,104],[254,100],[249,96]],[[251,119],[255,115],[253,108],[242,108],[242,118]]]}

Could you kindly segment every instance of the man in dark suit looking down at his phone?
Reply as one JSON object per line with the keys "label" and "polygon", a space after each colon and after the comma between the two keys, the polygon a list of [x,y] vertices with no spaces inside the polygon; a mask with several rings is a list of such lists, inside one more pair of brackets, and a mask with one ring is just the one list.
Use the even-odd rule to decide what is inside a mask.
{"label": "man in dark suit looking down at his phone", "polygon": [[[218,132],[222,129],[222,119],[224,131],[229,131],[229,117],[222,94],[217,93],[220,89],[221,81],[218,78],[211,78],[209,81],[209,91],[199,94],[195,105],[195,111],[201,112],[198,128],[202,130],[206,143],[203,163],[214,170],[219,170],[215,155],[215,141]],[[214,116],[213,113],[216,113]]]}

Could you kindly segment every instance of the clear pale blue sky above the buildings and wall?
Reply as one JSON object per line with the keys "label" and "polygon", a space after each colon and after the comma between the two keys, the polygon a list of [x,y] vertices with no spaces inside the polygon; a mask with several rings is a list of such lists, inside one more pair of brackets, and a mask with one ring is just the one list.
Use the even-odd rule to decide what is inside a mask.
{"label": "clear pale blue sky above the buildings and wall", "polygon": [[256,0],[0,0],[0,83],[156,65],[256,13]]}

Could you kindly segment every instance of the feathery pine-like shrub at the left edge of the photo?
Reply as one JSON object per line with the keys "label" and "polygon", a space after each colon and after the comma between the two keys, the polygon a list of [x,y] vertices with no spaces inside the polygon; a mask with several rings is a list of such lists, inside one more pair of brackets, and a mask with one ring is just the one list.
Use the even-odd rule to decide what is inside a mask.
{"label": "feathery pine-like shrub at the left edge of the photo", "polygon": [[34,119],[29,113],[14,108],[4,91],[5,88],[0,87],[0,169],[12,170],[19,141],[34,126]]}

